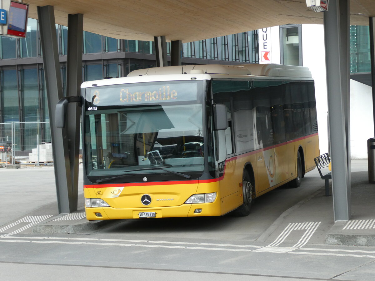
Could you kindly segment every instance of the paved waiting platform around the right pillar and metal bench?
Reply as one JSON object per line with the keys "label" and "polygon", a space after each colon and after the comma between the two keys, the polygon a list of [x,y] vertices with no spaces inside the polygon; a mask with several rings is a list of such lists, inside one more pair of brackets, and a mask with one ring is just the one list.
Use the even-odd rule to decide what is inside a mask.
{"label": "paved waiting platform around the right pillar and metal bench", "polygon": [[[297,230],[296,222],[305,221],[316,223],[316,229],[311,231],[314,235],[311,234],[309,244],[375,246],[375,184],[370,184],[368,181],[367,165],[367,160],[351,162],[352,217],[349,221],[335,223],[333,198],[325,196],[324,180],[322,180],[322,188],[285,211],[275,221],[276,226],[272,229],[272,233],[266,238],[263,235],[264,241],[275,242],[278,239],[277,235],[282,231],[293,230],[293,227]],[[330,194],[332,194],[331,180]],[[284,242],[296,241],[296,236],[301,236],[297,232],[292,231]]]}

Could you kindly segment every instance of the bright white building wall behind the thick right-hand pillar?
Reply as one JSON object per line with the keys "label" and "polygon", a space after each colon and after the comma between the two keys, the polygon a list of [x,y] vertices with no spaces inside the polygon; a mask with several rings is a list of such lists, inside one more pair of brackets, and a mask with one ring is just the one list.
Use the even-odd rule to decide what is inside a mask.
{"label": "bright white building wall behind the thick right-hand pillar", "polygon": [[[303,66],[309,67],[315,80],[320,152],[328,151],[327,78],[323,25],[302,25]],[[367,158],[367,140],[374,137],[371,87],[350,80],[351,158]]]}

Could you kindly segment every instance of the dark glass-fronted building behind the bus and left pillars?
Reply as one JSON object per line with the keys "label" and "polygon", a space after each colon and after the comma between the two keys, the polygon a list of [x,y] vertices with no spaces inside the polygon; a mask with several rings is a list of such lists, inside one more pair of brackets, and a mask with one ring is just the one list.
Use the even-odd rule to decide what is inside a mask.
{"label": "dark glass-fronted building behind the bus and left pillars", "polygon": [[[60,72],[66,95],[68,28],[56,25]],[[183,44],[183,64],[258,63],[257,31],[232,34]],[[169,55],[170,43],[167,43]],[[132,70],[155,67],[152,41],[120,40],[84,31],[82,81],[124,77]],[[4,124],[15,123],[18,155],[36,147],[28,135],[39,134],[39,142],[51,141],[49,114],[36,19],[28,19],[24,39],[0,36],[0,140]]]}

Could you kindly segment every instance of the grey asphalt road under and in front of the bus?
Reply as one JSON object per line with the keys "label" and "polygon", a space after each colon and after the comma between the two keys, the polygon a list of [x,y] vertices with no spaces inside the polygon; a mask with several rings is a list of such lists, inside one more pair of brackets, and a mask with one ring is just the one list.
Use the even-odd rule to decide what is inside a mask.
{"label": "grey asphalt road under and in front of the bus", "polygon": [[[55,201],[53,167],[1,169],[0,176],[0,226]],[[0,234],[0,279],[375,280],[375,247],[324,245],[332,214],[301,207],[324,194],[323,185],[317,171],[308,173],[300,188],[257,198],[242,218],[121,220],[94,233]],[[289,217],[320,224],[275,244]]]}

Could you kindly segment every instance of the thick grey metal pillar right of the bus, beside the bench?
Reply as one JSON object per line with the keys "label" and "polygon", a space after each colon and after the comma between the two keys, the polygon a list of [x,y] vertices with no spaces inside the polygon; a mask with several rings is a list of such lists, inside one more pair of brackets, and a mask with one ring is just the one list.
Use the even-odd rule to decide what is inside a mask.
{"label": "thick grey metal pillar right of the bus, beside the bench", "polygon": [[[348,2],[348,0],[344,1]],[[341,48],[340,46],[342,42],[339,3],[344,1],[331,0],[328,11],[324,12],[327,96],[332,158],[332,197],[335,221],[347,221],[351,217],[347,126],[345,126],[344,109],[344,103],[347,103],[347,96],[343,96],[342,87],[343,83],[347,84],[348,82],[345,81],[347,75],[345,73],[341,74],[344,71],[341,69],[341,64],[345,61],[342,56],[346,56],[347,54],[342,53],[346,47]],[[349,14],[345,13],[343,16],[348,17]]]}

